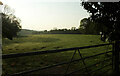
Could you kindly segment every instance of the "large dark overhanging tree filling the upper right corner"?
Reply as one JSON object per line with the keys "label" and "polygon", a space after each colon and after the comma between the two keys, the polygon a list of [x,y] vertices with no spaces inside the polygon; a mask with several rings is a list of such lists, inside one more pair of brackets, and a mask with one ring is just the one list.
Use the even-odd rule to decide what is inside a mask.
{"label": "large dark overhanging tree filling the upper right corner", "polygon": [[89,19],[99,23],[103,41],[120,39],[120,2],[82,2],[82,6],[90,13]]}

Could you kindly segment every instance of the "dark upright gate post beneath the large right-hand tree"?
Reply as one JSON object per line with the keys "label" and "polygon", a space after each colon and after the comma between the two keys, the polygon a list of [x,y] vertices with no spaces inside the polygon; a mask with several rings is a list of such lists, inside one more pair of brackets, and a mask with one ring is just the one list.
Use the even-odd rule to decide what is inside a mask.
{"label": "dark upright gate post beneath the large right-hand tree", "polygon": [[115,74],[119,74],[119,44],[119,41],[115,41],[113,44],[113,71]]}

